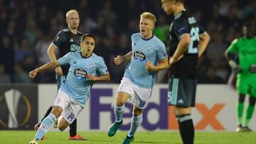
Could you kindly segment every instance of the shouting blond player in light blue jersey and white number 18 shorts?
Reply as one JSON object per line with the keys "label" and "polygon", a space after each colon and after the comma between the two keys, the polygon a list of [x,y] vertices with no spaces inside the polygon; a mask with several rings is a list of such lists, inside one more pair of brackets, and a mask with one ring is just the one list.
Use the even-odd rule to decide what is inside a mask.
{"label": "shouting blond player in light blue jersey and white number 18 shorts", "polygon": [[134,133],[142,124],[142,111],[149,104],[155,72],[168,68],[168,58],[164,43],[153,34],[156,17],[144,12],[140,15],[140,33],[132,35],[132,51],[122,57],[114,57],[114,63],[120,65],[129,62],[117,90],[117,99],[114,104],[115,121],[110,126],[108,135],[114,136],[122,124],[124,103],[128,99],[134,102],[131,128],[123,144],[131,143]]}

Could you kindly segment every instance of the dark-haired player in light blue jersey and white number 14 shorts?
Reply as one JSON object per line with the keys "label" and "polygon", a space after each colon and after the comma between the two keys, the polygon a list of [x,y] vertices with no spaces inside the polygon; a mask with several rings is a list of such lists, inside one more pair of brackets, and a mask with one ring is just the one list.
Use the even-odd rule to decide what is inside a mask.
{"label": "dark-haired player in light blue jersey and white number 14 shorts", "polygon": [[60,131],[64,131],[75,121],[75,118],[78,118],[78,114],[84,108],[92,84],[95,81],[108,81],[110,79],[103,58],[93,53],[95,37],[91,34],[82,35],[80,47],[82,51],[68,52],[59,60],[48,62],[46,65],[29,72],[29,77],[33,79],[38,72],[43,70],[53,69],[60,65],[70,65],[68,77],[64,79],[60,89],[58,89],[53,110],[43,119],[31,144],[37,144],[37,140],[41,140],[61,113],[63,113],[63,118],[58,123],[58,128]]}

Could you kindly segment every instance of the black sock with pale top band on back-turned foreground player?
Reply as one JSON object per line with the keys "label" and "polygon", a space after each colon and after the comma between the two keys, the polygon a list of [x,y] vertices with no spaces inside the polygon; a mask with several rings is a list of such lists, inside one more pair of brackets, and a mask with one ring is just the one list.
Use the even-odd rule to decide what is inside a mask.
{"label": "black sock with pale top band on back-turned foreground player", "polygon": [[181,138],[184,144],[193,144],[195,135],[191,114],[177,116]]}

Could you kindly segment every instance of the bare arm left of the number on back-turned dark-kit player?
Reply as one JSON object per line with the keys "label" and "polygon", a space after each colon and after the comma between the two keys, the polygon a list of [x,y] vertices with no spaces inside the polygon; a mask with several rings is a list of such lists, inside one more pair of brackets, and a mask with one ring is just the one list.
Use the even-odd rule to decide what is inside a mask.
{"label": "bare arm left of the number on back-turned dark-kit player", "polygon": [[188,33],[184,33],[183,35],[181,35],[181,40],[178,43],[177,49],[174,52],[174,55],[170,57],[169,67],[174,65],[174,63],[177,62],[178,60],[181,60],[181,58],[183,57],[183,54],[186,52],[186,50],[188,50],[188,45],[190,41],[191,41],[191,36]]}

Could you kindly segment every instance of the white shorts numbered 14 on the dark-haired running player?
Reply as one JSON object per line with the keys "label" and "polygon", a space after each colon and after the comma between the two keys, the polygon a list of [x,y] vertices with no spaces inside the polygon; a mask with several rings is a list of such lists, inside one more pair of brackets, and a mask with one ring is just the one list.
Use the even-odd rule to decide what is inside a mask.
{"label": "white shorts numbered 14 on the dark-haired running player", "polygon": [[63,118],[68,123],[73,123],[75,118],[78,117],[80,111],[82,111],[82,106],[78,104],[74,99],[72,99],[68,94],[62,90],[58,90],[58,94],[55,98],[53,106],[58,106],[63,109]]}

